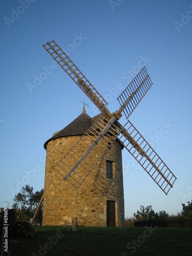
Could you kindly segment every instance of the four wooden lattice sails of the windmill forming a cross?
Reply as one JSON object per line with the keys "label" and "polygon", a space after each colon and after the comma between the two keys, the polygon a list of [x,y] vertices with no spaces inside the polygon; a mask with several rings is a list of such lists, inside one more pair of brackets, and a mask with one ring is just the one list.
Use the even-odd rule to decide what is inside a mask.
{"label": "four wooden lattice sails of the windmill forming a cross", "polygon": [[[100,111],[89,130],[74,143],[68,152],[63,154],[52,169],[63,180],[78,189],[86,179],[89,179],[88,176],[109,151],[111,145],[119,140],[167,195],[177,179],[176,176],[128,119],[153,84],[146,68],[143,67],[119,95],[117,100],[120,108],[111,113],[106,107],[108,104],[106,100],[54,40],[47,42],[43,47]],[[124,125],[119,121],[123,114],[127,119]],[[81,150],[82,145],[83,150]],[[95,152],[97,145],[104,148],[99,158]],[[87,163],[90,159],[92,162],[88,167]],[[102,181],[99,182],[99,186],[102,188]]]}

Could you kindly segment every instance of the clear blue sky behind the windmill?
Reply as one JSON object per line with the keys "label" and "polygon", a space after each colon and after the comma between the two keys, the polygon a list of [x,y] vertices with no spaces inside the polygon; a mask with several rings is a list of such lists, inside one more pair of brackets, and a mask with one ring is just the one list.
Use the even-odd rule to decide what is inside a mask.
{"label": "clear blue sky behind the windmill", "polygon": [[192,1],[2,0],[0,17],[1,207],[11,208],[25,184],[44,187],[43,145],[80,115],[80,101],[91,117],[99,113],[42,48],[54,39],[111,112],[126,76],[146,66],[154,84],[130,120],[177,180],[166,196],[124,149],[125,216],[140,205],[180,212],[192,199]]}

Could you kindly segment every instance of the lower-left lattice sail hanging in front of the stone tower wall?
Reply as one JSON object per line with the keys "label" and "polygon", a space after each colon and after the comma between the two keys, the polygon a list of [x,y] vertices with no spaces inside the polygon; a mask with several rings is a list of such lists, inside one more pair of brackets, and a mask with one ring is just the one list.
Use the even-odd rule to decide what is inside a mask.
{"label": "lower-left lattice sail hanging in front of the stone tower wall", "polygon": [[[101,130],[105,129],[108,125],[109,120],[99,115],[90,129],[52,166],[64,180],[67,180],[75,188],[78,188],[88,177],[120,134],[117,126],[113,124],[108,132],[105,133],[105,136],[100,137]],[[97,143],[95,142],[95,137],[99,138]],[[91,145],[93,146],[90,150]],[[96,145],[103,150],[99,158]]]}

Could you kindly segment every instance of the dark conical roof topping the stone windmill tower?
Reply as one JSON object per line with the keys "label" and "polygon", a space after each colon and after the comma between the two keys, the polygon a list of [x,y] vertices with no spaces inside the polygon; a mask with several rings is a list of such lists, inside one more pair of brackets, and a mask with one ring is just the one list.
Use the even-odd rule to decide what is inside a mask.
{"label": "dark conical roof topping the stone windmill tower", "polygon": [[74,121],[72,121],[62,130],[54,133],[53,137],[45,142],[45,149],[47,149],[47,144],[51,140],[67,136],[83,135],[90,129],[96,118],[98,118],[98,116],[91,118],[88,114],[86,114],[86,111],[83,110],[82,113]]}

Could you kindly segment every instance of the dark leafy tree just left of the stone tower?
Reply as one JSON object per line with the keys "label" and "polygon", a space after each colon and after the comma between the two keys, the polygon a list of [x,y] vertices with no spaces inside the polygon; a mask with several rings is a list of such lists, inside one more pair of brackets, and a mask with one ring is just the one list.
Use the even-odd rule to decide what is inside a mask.
{"label": "dark leafy tree just left of the stone tower", "polygon": [[[13,198],[12,207],[18,209],[23,215],[27,216],[29,221],[32,220],[35,209],[40,201],[44,189],[33,193],[33,187],[25,185],[21,191]],[[37,216],[34,221],[34,225],[41,226],[42,223],[42,204],[38,210]]]}

